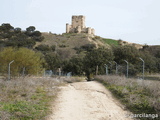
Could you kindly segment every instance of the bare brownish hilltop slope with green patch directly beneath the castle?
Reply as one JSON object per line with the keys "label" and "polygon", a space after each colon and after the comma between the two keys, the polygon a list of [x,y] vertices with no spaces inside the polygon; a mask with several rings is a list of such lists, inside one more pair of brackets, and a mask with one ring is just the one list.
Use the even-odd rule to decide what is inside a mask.
{"label": "bare brownish hilltop slope with green patch directly beneath the castle", "polygon": [[61,47],[78,47],[84,46],[86,44],[93,44],[97,48],[100,46],[110,48],[111,46],[118,46],[118,45],[132,45],[135,46],[137,49],[142,48],[143,45],[131,43],[127,41],[123,41],[121,39],[115,40],[111,38],[102,38],[100,36],[96,35],[89,35],[86,33],[63,33],[63,34],[53,34],[53,33],[47,33],[43,32],[42,36],[44,37],[44,40],[40,43],[37,43],[37,45],[45,44],[45,45],[57,45],[57,48]]}

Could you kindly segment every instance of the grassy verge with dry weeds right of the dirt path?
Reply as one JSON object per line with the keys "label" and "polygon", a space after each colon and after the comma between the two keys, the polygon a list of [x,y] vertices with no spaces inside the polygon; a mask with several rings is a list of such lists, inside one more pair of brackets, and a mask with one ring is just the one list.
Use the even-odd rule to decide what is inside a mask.
{"label": "grassy verge with dry weeds right of the dirt path", "polygon": [[[152,114],[152,117],[141,117],[141,120],[160,119],[160,82],[127,79],[120,76],[97,76],[96,80],[103,83],[134,114]],[[154,115],[153,115],[154,114]]]}

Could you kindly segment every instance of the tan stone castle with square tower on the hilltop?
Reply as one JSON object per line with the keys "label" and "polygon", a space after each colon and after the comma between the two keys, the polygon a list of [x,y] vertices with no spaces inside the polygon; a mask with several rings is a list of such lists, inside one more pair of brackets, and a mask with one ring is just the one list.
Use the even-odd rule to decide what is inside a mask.
{"label": "tan stone castle with square tower on the hilltop", "polygon": [[72,24],[66,24],[66,33],[87,33],[94,35],[95,30],[93,28],[85,26],[85,16],[72,16]]}

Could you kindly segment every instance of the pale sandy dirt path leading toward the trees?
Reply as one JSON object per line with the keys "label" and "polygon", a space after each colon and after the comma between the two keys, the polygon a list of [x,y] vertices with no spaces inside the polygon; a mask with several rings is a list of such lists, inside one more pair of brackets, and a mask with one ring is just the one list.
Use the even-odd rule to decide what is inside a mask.
{"label": "pale sandy dirt path leading toward the trees", "polygon": [[78,82],[62,87],[49,120],[130,120],[100,83]]}

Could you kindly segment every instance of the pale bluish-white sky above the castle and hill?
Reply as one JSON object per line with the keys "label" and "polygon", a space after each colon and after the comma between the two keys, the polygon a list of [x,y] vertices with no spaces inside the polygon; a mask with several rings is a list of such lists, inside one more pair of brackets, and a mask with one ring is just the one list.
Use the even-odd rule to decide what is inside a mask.
{"label": "pale bluish-white sky above the castle and hill", "polygon": [[0,24],[61,34],[72,15],[98,36],[160,45],[160,0],[0,0]]}

